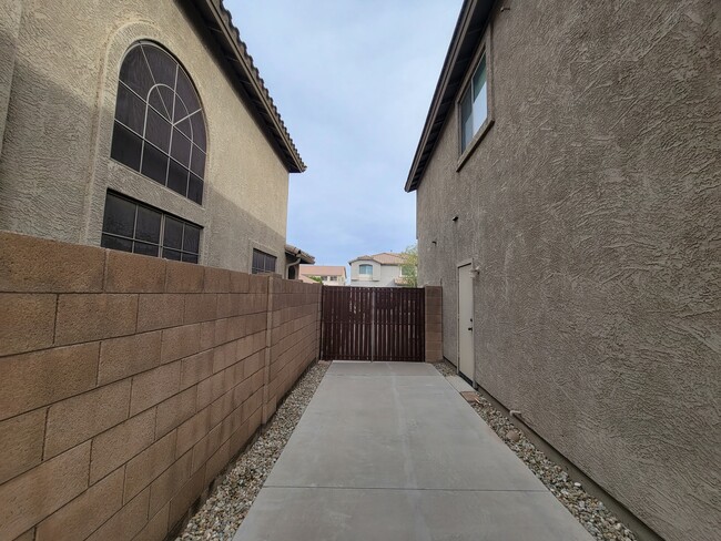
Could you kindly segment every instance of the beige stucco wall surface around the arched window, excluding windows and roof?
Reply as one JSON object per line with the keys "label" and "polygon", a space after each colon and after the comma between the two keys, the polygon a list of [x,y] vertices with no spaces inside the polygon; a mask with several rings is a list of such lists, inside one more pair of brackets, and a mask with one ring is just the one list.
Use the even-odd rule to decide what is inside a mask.
{"label": "beige stucco wall surface around the arched window, excluding windows and roof", "polygon": [[[283,261],[288,173],[186,17],[172,0],[26,0],[0,228],[98,245],[113,188],[203,226],[204,264],[250,270],[253,247]],[[140,39],[170,50],[197,88],[209,146],[202,206],[109,159],[120,63]]]}

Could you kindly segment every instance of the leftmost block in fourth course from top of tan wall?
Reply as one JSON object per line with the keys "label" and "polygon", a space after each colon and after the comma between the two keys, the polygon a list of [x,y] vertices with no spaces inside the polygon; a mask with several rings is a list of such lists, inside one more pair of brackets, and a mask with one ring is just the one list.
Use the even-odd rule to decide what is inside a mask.
{"label": "leftmost block in fourth course from top of tan wall", "polygon": [[37,409],[0,422],[0,441],[2,441],[0,483],[40,463],[44,428],[44,409]]}

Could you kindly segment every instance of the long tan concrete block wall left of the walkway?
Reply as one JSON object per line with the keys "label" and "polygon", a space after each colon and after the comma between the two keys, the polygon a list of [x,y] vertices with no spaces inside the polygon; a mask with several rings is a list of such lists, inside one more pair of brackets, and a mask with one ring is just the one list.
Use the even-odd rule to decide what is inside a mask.
{"label": "long tan concrete block wall left of the walkway", "polygon": [[319,302],[0,232],[0,539],[164,539],[317,358]]}

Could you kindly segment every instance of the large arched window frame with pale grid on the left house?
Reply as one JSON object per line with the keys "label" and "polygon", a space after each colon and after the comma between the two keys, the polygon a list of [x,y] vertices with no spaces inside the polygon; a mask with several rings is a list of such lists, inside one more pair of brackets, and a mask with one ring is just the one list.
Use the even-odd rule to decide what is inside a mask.
{"label": "large arched window frame with pale grid on the left house", "polygon": [[[163,84],[163,82],[160,79],[158,80],[155,79],[158,72],[153,73],[152,71],[153,69],[151,68],[151,64],[155,65],[155,69],[158,69],[158,64],[150,62],[149,60],[150,57],[146,55],[144,48],[154,48],[174,62],[174,68],[175,68],[174,88],[166,86],[165,84]],[[140,94],[139,89],[133,88],[132,78],[126,76],[125,78],[126,80],[123,80],[122,78],[123,70],[125,69],[126,62],[129,62],[129,57],[131,54],[138,54],[136,51],[140,51],[143,59],[145,60],[144,65],[146,67],[148,73],[150,73],[152,80],[152,82],[149,83],[150,89],[148,90],[145,96]],[[142,74],[135,73],[135,75],[140,76]],[[164,106],[163,109],[165,109],[165,114],[172,115],[170,119],[166,118],[162,111],[156,109],[158,103],[155,104],[152,103],[153,92],[156,92],[158,95],[161,96],[162,88],[166,88],[172,92],[173,103],[181,102],[181,105],[185,108],[185,110],[187,110],[185,101],[183,100],[183,96],[185,96],[195,100],[197,109],[195,109],[192,112],[187,111],[186,115],[177,120],[172,118],[175,114],[174,105],[173,108],[171,108],[173,110],[172,113],[169,113],[167,106]],[[190,92],[192,92],[192,95],[190,95]],[[121,95],[124,96],[124,99],[128,100],[129,102],[125,110],[120,109]],[[160,98],[160,100],[161,100],[161,104],[164,105],[165,102],[163,101],[162,96]],[[130,104],[131,102],[132,104]],[[209,140],[207,122],[205,118],[205,108],[203,106],[203,103],[201,101],[197,86],[195,85],[189,71],[181,63],[181,61],[165,47],[163,47],[162,44],[155,41],[152,40],[134,41],[128,47],[119,64],[119,71],[115,78],[115,100],[113,105],[114,105],[113,115],[112,115],[113,120],[112,120],[112,129],[111,129],[111,136],[110,136],[109,157],[114,163],[118,163],[120,165],[130,169],[131,171],[142,176],[143,178],[151,180],[154,183],[158,183],[161,186],[166,187],[174,194],[180,195],[183,198],[196,205],[200,205],[202,207],[203,202],[205,201],[205,184],[207,183],[207,166],[209,166],[210,145],[207,141]],[[133,108],[135,108],[135,110],[133,110]],[[140,108],[143,108],[143,110],[140,111]],[[124,121],[125,118],[133,116],[134,113],[135,114],[142,113],[141,114],[142,119],[136,119],[136,121],[140,121],[140,124],[136,127],[129,125],[129,123]],[[159,145],[159,143],[154,141],[154,137],[149,136],[148,129],[149,125],[151,125],[151,122],[149,121],[151,114],[156,115],[160,119],[159,122],[166,123],[170,126],[169,134],[167,134],[169,140],[166,142],[166,146],[167,146],[166,150],[163,150],[161,145]],[[195,116],[197,118],[197,120],[193,119]],[[185,133],[185,130],[187,130],[189,126],[183,127],[181,125],[183,123],[189,124],[190,135]],[[195,131],[194,131],[194,129],[196,127],[200,130],[200,131],[195,130],[197,131],[197,135],[195,135]],[[139,130],[142,130],[142,133]],[[180,146],[173,144],[173,137],[175,133],[179,133],[180,135],[177,136],[181,137],[182,140],[180,146],[185,146],[185,143],[187,143],[189,150],[187,150],[186,159],[185,156],[180,157],[180,155],[176,154],[176,149],[179,149]],[[122,141],[123,136],[126,137],[126,141],[124,142],[124,146]],[[140,146],[140,154],[139,156],[132,156],[132,159],[129,157],[125,161],[123,161],[122,159],[123,151],[125,152],[129,151],[128,145],[130,143],[138,144]],[[162,145],[165,145],[165,143],[163,143]],[[196,152],[199,153],[197,155],[200,156],[201,163],[197,163],[194,160]],[[146,155],[149,155],[149,153],[155,153],[158,155],[162,155],[163,161],[165,163],[164,182],[153,176],[151,170],[158,169],[159,163],[156,163],[153,160],[146,160]],[[136,160],[140,161],[140,163],[138,164],[134,163],[135,157]],[[185,164],[182,163],[181,160],[186,161],[186,163]],[[184,176],[185,178],[184,192],[181,192],[179,187],[171,187],[173,184],[173,180],[175,180],[175,182],[180,180],[173,177],[172,175],[173,171],[175,173],[180,172],[181,175]]]}

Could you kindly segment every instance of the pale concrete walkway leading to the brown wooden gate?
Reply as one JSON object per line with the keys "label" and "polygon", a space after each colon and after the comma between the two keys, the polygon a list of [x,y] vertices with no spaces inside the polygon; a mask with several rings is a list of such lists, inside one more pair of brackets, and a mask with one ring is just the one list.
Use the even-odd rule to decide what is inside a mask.
{"label": "pale concrete walkway leading to the brown wooden gate", "polygon": [[429,365],[333,363],[234,541],[590,541]]}

